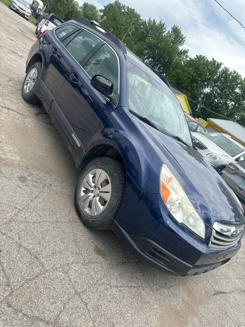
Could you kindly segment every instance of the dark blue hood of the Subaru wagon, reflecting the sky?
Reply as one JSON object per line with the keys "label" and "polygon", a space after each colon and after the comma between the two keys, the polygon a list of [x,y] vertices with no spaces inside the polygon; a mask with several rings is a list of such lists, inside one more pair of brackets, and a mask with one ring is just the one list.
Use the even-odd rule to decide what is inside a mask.
{"label": "dark blue hood of the Subaru wagon, reflecting the sky", "polygon": [[[165,163],[206,224],[213,226],[215,221],[244,222],[243,210],[234,194],[199,151],[141,121],[139,124],[154,147],[157,158],[152,165],[152,170],[156,172],[154,185],[156,182],[159,185],[159,167],[161,169]],[[152,158],[150,160],[152,164]]]}

